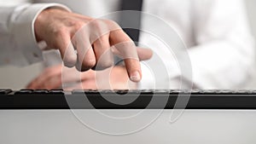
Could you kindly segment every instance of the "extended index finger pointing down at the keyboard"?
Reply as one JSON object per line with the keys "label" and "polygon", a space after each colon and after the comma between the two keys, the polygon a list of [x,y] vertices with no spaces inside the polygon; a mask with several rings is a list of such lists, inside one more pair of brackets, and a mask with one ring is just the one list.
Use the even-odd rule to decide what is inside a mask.
{"label": "extended index finger pointing down at the keyboard", "polygon": [[133,82],[139,82],[142,78],[142,71],[137,55],[137,47],[131,38],[121,29],[110,32],[110,44],[125,61],[126,71]]}

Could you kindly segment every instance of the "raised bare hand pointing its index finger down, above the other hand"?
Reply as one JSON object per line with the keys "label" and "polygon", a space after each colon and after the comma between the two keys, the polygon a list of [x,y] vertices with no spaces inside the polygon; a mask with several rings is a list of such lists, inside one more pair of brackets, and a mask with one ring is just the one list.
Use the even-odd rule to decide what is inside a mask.
{"label": "raised bare hand pointing its index finger down, above the other hand", "polygon": [[[113,66],[113,54],[125,60],[129,78],[142,78],[139,58],[152,56],[149,49],[136,48],[122,29],[112,20],[97,20],[61,9],[45,9],[35,21],[37,41],[59,49],[65,66],[79,71],[102,70]],[[77,53],[76,54],[76,51]]]}

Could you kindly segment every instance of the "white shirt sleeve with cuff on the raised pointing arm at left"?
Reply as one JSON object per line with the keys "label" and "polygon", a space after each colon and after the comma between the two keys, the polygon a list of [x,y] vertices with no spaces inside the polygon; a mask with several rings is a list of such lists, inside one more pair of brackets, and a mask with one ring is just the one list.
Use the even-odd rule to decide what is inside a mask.
{"label": "white shirt sleeve with cuff on the raised pointing arm at left", "polygon": [[59,3],[26,3],[0,6],[0,66],[26,66],[43,60],[34,33],[34,22],[44,9],[66,9]]}

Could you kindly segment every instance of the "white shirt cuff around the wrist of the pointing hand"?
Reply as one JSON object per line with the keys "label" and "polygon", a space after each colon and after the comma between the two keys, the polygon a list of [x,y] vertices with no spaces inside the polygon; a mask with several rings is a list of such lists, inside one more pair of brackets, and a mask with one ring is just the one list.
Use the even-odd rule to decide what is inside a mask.
{"label": "white shirt cuff around the wrist of the pointing hand", "polygon": [[13,33],[16,48],[26,58],[27,65],[43,60],[34,32],[34,22],[44,9],[56,8],[71,11],[59,3],[36,3],[17,7],[10,18],[10,31]]}

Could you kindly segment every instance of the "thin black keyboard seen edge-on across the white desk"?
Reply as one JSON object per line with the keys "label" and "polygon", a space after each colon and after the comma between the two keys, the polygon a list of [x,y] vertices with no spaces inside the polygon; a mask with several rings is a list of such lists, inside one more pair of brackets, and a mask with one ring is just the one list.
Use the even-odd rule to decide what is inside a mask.
{"label": "thin black keyboard seen edge-on across the white desk", "polygon": [[[110,101],[109,101],[110,100]],[[118,101],[118,102],[113,102]],[[131,101],[129,103],[125,103]],[[180,105],[180,101],[186,102]],[[0,89],[0,109],[256,109],[256,90]]]}

